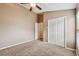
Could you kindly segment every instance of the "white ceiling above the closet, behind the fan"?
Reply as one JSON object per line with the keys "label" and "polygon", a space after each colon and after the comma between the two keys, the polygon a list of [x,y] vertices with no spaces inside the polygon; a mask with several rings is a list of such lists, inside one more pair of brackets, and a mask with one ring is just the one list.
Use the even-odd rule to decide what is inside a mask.
{"label": "white ceiling above the closet, behind the fan", "polygon": [[[68,9],[75,9],[76,3],[37,3],[42,10],[38,10],[37,8],[33,8],[33,12],[35,13],[42,13],[47,11],[57,11],[57,10],[68,10]],[[29,4],[23,4],[24,7],[30,9]]]}

